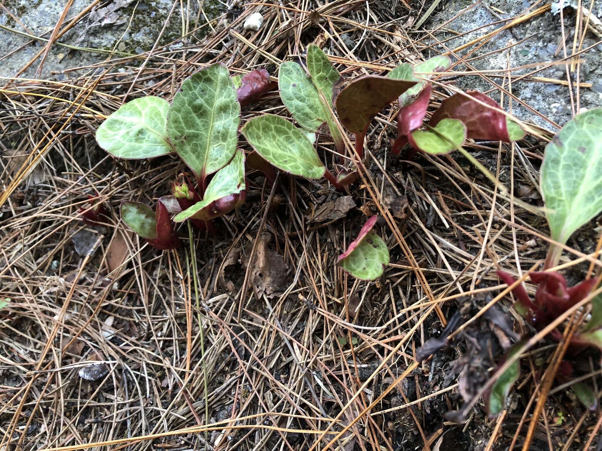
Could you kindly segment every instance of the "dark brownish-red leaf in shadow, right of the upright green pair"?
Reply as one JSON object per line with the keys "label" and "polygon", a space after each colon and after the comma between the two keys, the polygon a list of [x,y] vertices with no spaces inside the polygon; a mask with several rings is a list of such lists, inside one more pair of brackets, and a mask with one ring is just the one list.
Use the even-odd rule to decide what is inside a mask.
{"label": "dark brownish-red leaf in shadow, right of the upright green pair", "polygon": [[374,115],[416,83],[380,75],[353,80],[335,102],[341,123],[350,132],[363,135]]}

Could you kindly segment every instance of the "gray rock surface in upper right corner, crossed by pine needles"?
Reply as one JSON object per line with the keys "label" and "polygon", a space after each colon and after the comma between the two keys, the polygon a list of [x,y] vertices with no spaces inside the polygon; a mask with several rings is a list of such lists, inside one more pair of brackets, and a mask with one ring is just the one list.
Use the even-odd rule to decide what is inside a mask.
{"label": "gray rock surface in upper right corner, crossed by pine needles", "polygon": [[[500,17],[501,19],[508,19],[517,16],[521,11],[529,8],[531,3],[532,2],[529,2],[528,0],[485,0],[473,7],[467,13],[462,14],[462,16],[447,23],[445,28],[464,33],[478,28],[479,26],[497,22],[500,20]],[[470,5],[470,3],[464,0],[450,0],[442,4],[444,5],[444,8],[433,13],[432,17],[429,19],[430,23],[427,25],[427,28],[437,28],[452,19],[452,17],[458,14],[463,8]],[[541,5],[543,4],[538,4],[536,7]],[[592,13],[598,17],[602,17],[602,2],[594,2],[594,5],[595,7]],[[499,8],[504,14],[495,11],[491,7]],[[536,7],[532,9],[536,9]],[[566,51],[568,55],[571,55],[573,50],[576,14],[571,8],[565,8],[563,14]],[[444,34],[439,33],[436,37],[439,40],[452,38],[445,42],[445,46],[447,46],[448,49],[454,49],[474,38],[483,36],[502,25],[503,23],[498,23],[497,25],[486,26],[478,31],[470,32],[457,38],[452,38],[454,35],[452,32],[445,32]],[[509,46],[510,44],[517,43],[525,38],[527,39],[522,43],[508,50],[485,55],[489,52]],[[600,40],[600,38],[591,31],[588,31],[583,40],[582,49],[594,45],[598,40]],[[512,71],[514,76],[524,75],[535,69],[539,69],[545,63],[559,61],[563,57],[563,49],[562,46],[560,46],[561,41],[562,31],[560,27],[560,14],[554,16],[551,11],[547,11],[495,35],[495,37],[483,44],[483,46],[470,55],[469,58],[482,56],[482,58],[470,61],[470,64],[477,70],[504,69],[508,67],[508,64],[510,67],[514,68],[530,65],[530,67]],[[440,52],[446,51],[442,46],[438,46],[436,49]],[[470,49],[474,49],[474,46],[459,51],[458,55],[464,56]],[[580,82],[591,83],[592,87],[580,88],[579,109],[589,109],[602,105],[601,52],[602,44],[598,44],[581,55],[583,61],[580,64]],[[471,69],[463,65],[456,66],[455,70]],[[503,74],[497,73],[496,75]],[[534,74],[534,76],[566,81],[566,66],[565,64],[551,66]],[[491,77],[491,79],[500,85],[504,82],[503,78],[500,77]],[[571,79],[573,82],[577,80],[576,71],[571,72]],[[474,89],[484,92],[492,88],[492,84],[479,75],[461,76],[455,81],[455,84],[462,90]],[[505,87],[507,88],[507,82]],[[526,102],[527,105],[535,109],[535,111],[543,116],[547,116],[551,121],[560,126],[565,124],[566,121],[571,118],[571,96],[569,94],[568,85],[549,82],[517,81],[512,84],[512,93],[517,96],[518,99],[523,100],[523,102]],[[496,100],[500,100],[499,91],[491,93],[490,95]],[[577,108],[575,98],[576,92],[573,88],[574,108]],[[507,97],[504,100],[504,103],[507,108]],[[549,121],[533,111],[529,111],[528,108],[520,105],[518,102],[512,102],[512,111],[521,120],[533,121],[545,129],[551,131],[556,130],[556,127]]]}

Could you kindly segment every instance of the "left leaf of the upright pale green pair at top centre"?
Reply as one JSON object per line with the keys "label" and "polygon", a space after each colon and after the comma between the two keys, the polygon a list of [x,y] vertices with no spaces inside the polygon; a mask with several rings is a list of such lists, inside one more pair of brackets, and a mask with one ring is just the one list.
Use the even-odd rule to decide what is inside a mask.
{"label": "left leaf of the upright pale green pair at top centre", "polygon": [[320,94],[300,64],[286,61],[278,70],[282,103],[304,129],[315,132],[326,121]]}

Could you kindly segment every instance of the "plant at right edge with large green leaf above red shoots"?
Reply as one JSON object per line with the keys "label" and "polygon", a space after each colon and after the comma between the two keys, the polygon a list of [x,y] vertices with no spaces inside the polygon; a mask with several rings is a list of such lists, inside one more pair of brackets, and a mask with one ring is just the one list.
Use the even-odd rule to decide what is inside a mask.
{"label": "plant at right edge with large green leaf above red shoots", "polygon": [[[602,108],[577,114],[545,147],[540,183],[554,241],[544,264],[544,269],[549,269],[559,262],[562,247],[558,244],[566,244],[579,227],[602,211],[599,195],[602,190]],[[497,274],[508,285],[516,282],[505,271],[498,270]],[[583,301],[596,283],[596,278],[592,277],[568,287],[565,277],[555,271],[530,272],[529,277],[537,285],[533,301],[522,284],[514,287],[512,292],[517,298],[515,309],[536,330],[544,329]],[[562,333],[556,328],[550,336],[559,342],[562,340]],[[591,319],[571,336],[571,346],[573,354],[586,346],[602,349],[602,295],[592,299]],[[573,384],[572,388],[588,408],[595,408],[597,403],[592,402],[589,387]]]}

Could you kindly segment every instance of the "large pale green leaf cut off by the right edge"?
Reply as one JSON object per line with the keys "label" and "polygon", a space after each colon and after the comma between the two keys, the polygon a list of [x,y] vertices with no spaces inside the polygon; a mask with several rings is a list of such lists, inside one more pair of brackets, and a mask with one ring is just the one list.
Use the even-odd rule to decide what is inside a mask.
{"label": "large pale green leaf cut off by the right edge", "polygon": [[551,238],[565,244],[602,210],[602,108],[577,114],[548,143],[540,183]]}

